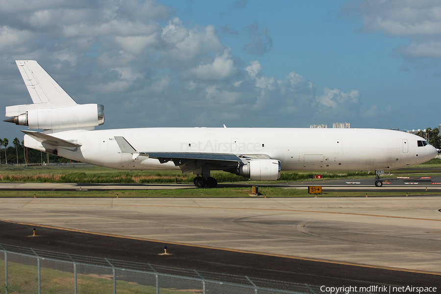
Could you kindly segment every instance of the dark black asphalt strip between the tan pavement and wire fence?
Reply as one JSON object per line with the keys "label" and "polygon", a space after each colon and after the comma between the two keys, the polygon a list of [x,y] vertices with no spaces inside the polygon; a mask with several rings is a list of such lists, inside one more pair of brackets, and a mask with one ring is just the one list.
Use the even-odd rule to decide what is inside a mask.
{"label": "dark black asphalt strip between the tan pavement and wire fence", "polygon": [[[36,228],[37,237],[32,237]],[[293,258],[171,245],[0,221],[3,244],[42,250],[327,286],[439,286],[441,276]],[[172,255],[161,256],[164,246]]]}

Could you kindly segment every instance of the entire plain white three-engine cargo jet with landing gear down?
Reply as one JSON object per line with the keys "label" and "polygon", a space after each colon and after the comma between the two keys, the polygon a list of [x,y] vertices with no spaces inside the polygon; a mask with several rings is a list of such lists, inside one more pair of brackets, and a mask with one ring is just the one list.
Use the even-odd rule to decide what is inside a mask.
{"label": "entire plain white three-engine cargo jet with landing gear down", "polygon": [[16,61],[34,104],[6,107],[5,122],[27,125],[25,146],[121,170],[193,172],[195,185],[215,187],[210,171],[251,180],[277,180],[280,171],[376,171],[434,158],[424,139],[384,129],[130,128],[94,130],[104,123],[99,104],[77,104],[32,60]]}

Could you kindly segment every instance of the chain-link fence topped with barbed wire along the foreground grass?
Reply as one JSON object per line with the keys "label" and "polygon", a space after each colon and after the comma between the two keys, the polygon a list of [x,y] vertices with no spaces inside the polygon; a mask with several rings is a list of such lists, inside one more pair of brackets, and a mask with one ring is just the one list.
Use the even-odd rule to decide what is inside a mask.
{"label": "chain-link fence topped with barbed wire along the foreground grass", "polygon": [[0,294],[318,294],[319,286],[0,244]]}

